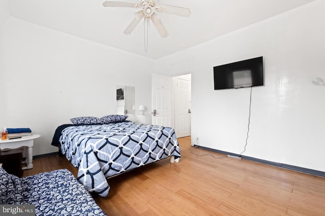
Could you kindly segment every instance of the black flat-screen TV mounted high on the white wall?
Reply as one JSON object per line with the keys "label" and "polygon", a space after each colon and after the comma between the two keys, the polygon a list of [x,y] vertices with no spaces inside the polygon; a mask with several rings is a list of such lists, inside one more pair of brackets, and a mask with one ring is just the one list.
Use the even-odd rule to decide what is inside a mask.
{"label": "black flat-screen TV mounted high on the white wall", "polygon": [[213,67],[214,90],[263,85],[263,56]]}

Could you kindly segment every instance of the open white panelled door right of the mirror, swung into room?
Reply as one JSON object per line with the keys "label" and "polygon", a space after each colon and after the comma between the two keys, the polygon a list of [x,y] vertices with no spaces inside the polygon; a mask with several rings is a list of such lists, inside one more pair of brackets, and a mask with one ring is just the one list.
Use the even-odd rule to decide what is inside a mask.
{"label": "open white panelled door right of the mirror, swung into room", "polygon": [[152,124],[172,127],[172,77],[152,74]]}

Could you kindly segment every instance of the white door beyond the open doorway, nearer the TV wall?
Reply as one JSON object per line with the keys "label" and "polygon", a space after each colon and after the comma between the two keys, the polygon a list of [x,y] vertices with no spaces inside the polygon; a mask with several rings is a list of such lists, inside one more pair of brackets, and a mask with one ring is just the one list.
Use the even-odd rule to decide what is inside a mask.
{"label": "white door beyond the open doorway, nearer the TV wall", "polygon": [[177,138],[191,135],[191,82],[176,78],[175,126]]}

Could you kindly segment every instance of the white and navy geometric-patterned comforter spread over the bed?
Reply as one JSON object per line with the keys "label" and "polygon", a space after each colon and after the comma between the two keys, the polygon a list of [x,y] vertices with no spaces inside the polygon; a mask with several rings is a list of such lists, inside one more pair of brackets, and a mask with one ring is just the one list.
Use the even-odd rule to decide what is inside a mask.
{"label": "white and navy geometric-patterned comforter spread over the bed", "polygon": [[59,138],[61,151],[78,168],[78,181],[107,196],[106,178],[174,155],[180,148],[173,128],[123,121],[69,126]]}

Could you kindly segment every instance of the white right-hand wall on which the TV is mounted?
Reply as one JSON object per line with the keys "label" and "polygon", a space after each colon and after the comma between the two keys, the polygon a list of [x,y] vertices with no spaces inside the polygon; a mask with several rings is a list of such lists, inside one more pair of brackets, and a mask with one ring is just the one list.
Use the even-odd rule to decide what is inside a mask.
{"label": "white right-hand wall on which the TV is mounted", "polygon": [[193,61],[192,142],[240,154],[250,89],[213,90],[213,66],[264,57],[265,84],[252,89],[250,132],[243,155],[325,171],[325,1],[318,0],[161,58],[156,73]]}

